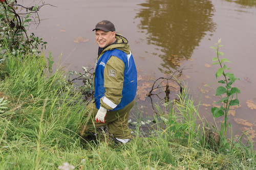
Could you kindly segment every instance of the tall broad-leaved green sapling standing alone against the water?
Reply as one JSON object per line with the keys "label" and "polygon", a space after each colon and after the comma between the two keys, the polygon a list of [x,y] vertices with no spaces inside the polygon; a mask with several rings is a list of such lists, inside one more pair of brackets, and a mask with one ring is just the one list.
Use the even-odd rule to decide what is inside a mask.
{"label": "tall broad-leaved green sapling standing alone against the water", "polygon": [[226,64],[223,64],[223,63],[230,62],[230,61],[226,58],[220,59],[220,55],[224,56],[223,52],[219,51],[219,48],[223,46],[220,43],[221,43],[221,39],[219,39],[218,44],[216,44],[217,47],[211,46],[211,48],[214,48],[217,53],[217,57],[214,57],[212,59],[212,61],[217,61],[217,62],[214,62],[212,65],[215,65],[215,64],[220,65],[220,68],[216,72],[216,78],[223,76],[224,80],[220,80],[218,81],[218,83],[222,85],[225,84],[225,87],[219,86],[217,88],[216,96],[220,96],[221,100],[218,102],[215,102],[215,104],[222,103],[223,106],[220,106],[220,108],[212,107],[211,113],[214,117],[220,117],[224,115],[224,123],[222,124],[221,134],[223,134],[224,132],[224,136],[226,137],[227,126],[231,126],[230,122],[227,123],[228,111],[231,106],[239,106],[239,100],[237,99],[237,96],[238,96],[238,93],[241,93],[241,91],[237,87],[231,87],[231,85],[236,80],[240,80],[240,79],[234,77],[234,75],[231,74],[230,72],[227,72],[227,73],[225,72],[225,70],[229,70],[230,68],[228,68]]}

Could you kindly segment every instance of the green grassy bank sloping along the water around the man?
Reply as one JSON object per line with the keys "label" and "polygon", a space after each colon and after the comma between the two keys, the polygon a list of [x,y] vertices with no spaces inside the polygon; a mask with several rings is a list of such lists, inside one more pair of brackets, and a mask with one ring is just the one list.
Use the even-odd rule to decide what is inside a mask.
{"label": "green grassy bank sloping along the water around the man", "polygon": [[87,103],[64,71],[50,74],[44,56],[33,55],[9,54],[0,68],[0,99],[8,102],[0,108],[0,169],[61,169],[65,162],[70,169],[255,169],[252,148],[235,141],[211,148],[204,141],[186,94],[158,107],[146,135],[136,124],[130,143],[117,146],[106,135],[95,145],[79,136]]}

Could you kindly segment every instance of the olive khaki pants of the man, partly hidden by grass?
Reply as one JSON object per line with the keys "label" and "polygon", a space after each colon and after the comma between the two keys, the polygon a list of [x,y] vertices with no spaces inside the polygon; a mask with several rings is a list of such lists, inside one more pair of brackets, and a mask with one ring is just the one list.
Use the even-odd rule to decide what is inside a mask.
{"label": "olive khaki pants of the man, partly hidden by grass", "polygon": [[135,100],[120,110],[107,111],[105,116],[105,123],[96,123],[95,116],[98,112],[98,109],[96,108],[95,103],[91,102],[87,106],[87,111],[84,115],[84,117],[86,117],[86,121],[81,130],[81,135],[84,134],[84,131],[95,132],[96,128],[108,125],[109,132],[113,134],[114,137],[119,139],[130,139],[132,135],[128,128],[128,119],[134,104]]}

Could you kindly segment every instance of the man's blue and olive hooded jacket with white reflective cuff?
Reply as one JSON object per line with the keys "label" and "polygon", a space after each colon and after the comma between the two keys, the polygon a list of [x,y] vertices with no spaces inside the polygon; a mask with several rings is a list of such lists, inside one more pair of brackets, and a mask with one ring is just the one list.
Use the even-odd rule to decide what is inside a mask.
{"label": "man's blue and olive hooded jacket with white reflective cuff", "polygon": [[137,70],[126,38],[116,34],[117,43],[98,57],[94,73],[94,101],[97,109],[119,110],[135,99]]}

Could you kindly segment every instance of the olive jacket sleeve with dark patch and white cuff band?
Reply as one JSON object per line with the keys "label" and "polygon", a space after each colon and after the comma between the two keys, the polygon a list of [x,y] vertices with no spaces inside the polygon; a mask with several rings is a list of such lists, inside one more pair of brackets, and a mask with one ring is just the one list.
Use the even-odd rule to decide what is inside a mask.
{"label": "olive jacket sleeve with dark patch and white cuff band", "polygon": [[105,95],[100,99],[100,106],[107,110],[113,110],[121,101],[124,68],[123,61],[115,56],[106,62],[104,68]]}

